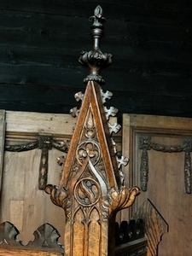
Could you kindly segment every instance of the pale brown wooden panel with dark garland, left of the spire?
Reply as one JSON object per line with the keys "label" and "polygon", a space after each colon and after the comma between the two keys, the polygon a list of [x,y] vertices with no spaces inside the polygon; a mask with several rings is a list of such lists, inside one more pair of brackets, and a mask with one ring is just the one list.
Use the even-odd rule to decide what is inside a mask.
{"label": "pale brown wooden panel with dark garland, left of the spire", "polygon": [[15,224],[17,239],[24,244],[34,240],[33,232],[44,223],[59,231],[63,244],[65,214],[53,205],[44,186],[60,181],[75,122],[69,114],[1,112],[0,149],[3,139],[5,149],[0,150],[0,222]]}

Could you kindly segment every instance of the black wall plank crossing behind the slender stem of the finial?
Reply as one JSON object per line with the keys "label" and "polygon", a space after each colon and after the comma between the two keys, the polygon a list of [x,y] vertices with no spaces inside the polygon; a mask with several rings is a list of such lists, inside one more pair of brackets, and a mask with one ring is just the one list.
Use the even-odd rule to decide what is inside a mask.
{"label": "black wall plank crossing behind the slender stem of the finial", "polygon": [[[69,53],[80,51],[82,47],[90,49],[90,23],[86,18],[3,10],[0,14],[0,45],[20,46],[23,49],[56,48]],[[191,49],[192,46],[189,23],[171,26],[108,20],[105,30],[106,38],[102,44],[107,51],[112,49],[115,56],[127,55],[133,58],[137,54],[145,58],[157,51],[156,57],[162,58],[162,53],[165,53],[166,60],[177,59],[186,54],[183,49]],[[177,52],[178,48],[182,52]],[[144,55],[143,50],[146,50]]]}

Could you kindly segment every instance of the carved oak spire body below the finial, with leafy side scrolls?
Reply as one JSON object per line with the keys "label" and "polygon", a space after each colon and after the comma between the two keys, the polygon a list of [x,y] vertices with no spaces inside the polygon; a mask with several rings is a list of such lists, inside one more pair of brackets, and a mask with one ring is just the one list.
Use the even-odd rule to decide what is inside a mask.
{"label": "carved oak spire body below the finial, with leafy side scrolls", "polygon": [[84,229],[81,235],[86,241],[87,251],[84,252],[82,247],[84,256],[89,255],[87,237],[93,236],[92,223],[98,224],[102,230],[96,244],[106,247],[108,242],[104,234],[108,233],[110,219],[119,210],[130,207],[140,191],[137,187],[127,189],[124,186],[124,173],[119,169],[128,164],[128,159],[122,156],[117,160],[108,121],[100,112],[104,113],[100,85],[89,82],[61,182],[58,187],[48,185],[45,189],[51,201],[66,212],[65,241],[71,247],[66,248],[67,256],[77,249],[78,238],[75,234],[79,229]]}

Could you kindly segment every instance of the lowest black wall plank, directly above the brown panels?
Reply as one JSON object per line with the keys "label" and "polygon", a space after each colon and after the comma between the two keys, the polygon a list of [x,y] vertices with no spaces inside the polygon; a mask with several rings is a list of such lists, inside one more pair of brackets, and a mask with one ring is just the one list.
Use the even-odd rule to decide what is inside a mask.
{"label": "lowest black wall plank, directly above the brown panels", "polygon": [[[53,88],[35,85],[0,86],[0,108],[18,111],[49,113],[69,113],[74,107],[80,107],[74,99],[78,88]],[[84,90],[83,90],[84,91]],[[121,113],[150,113],[173,116],[191,116],[191,96],[150,96],[148,93],[112,91],[113,98],[107,106],[119,109]]]}

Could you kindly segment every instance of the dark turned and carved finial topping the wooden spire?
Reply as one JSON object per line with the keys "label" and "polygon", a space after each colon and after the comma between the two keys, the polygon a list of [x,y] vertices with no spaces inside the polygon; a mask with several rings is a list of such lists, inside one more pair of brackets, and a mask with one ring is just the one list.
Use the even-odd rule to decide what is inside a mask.
{"label": "dark turned and carved finial topping the wooden spire", "polygon": [[100,75],[103,68],[108,67],[112,63],[113,55],[102,53],[100,43],[103,36],[103,23],[106,19],[102,16],[102,7],[98,5],[95,9],[95,15],[90,16],[90,21],[93,21],[91,26],[91,38],[93,40],[92,50],[89,52],[82,51],[79,57],[79,62],[89,67],[90,74],[84,79],[84,84],[88,81],[96,81],[98,84],[105,84],[105,80]]}

